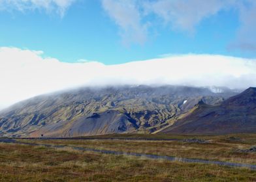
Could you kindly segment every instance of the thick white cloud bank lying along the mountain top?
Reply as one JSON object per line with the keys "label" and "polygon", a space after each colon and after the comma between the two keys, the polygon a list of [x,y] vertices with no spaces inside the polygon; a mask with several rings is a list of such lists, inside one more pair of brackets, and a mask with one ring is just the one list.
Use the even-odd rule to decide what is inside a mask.
{"label": "thick white cloud bank lying along the mountain top", "polygon": [[42,58],[42,51],[0,47],[0,108],[39,94],[77,86],[256,86],[256,60],[180,55],[106,66]]}

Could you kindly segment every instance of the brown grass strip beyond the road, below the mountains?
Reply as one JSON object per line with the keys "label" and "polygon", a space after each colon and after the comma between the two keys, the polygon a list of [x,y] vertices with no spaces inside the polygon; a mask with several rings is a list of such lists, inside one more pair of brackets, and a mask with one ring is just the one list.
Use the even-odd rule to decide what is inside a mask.
{"label": "brown grass strip beyond the road, below the mountains", "polygon": [[[131,140],[132,138],[152,139],[152,136],[154,135],[106,135],[95,136],[97,140],[27,140],[27,142],[256,164],[256,152],[246,153],[239,151],[241,149],[248,149],[256,146],[256,135],[155,135],[155,138],[157,139],[178,140]],[[106,138],[122,138],[122,140],[108,140]],[[129,140],[124,140],[125,138],[129,138]],[[183,141],[184,139],[189,138],[205,140],[206,143]]]}

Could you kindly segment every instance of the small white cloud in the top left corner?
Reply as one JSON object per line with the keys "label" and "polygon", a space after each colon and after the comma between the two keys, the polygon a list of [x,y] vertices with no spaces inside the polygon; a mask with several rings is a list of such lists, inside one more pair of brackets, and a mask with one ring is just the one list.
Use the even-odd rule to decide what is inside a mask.
{"label": "small white cloud in the top left corner", "polygon": [[27,10],[43,9],[46,12],[57,12],[60,16],[76,0],[0,0],[0,10],[19,10],[25,12]]}

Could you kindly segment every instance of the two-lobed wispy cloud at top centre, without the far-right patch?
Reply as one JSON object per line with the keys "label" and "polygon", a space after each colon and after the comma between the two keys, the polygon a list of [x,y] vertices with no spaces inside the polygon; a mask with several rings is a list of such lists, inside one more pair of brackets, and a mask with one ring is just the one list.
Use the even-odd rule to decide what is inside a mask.
{"label": "two-lobed wispy cloud at top centre, without the far-right patch", "polygon": [[[220,10],[234,5],[236,0],[102,0],[103,8],[120,26],[124,42],[143,43],[148,34],[150,14],[163,19],[178,31],[193,32],[196,25]],[[145,20],[146,19],[146,20]],[[142,23],[145,22],[146,23]]]}

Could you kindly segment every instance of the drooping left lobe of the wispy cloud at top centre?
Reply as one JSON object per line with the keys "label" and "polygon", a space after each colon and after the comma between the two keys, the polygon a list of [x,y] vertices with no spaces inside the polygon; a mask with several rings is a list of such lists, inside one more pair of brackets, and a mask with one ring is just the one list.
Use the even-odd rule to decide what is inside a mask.
{"label": "drooping left lobe of the wispy cloud at top centre", "polygon": [[142,17],[135,0],[103,0],[103,8],[118,26],[123,44],[136,42],[143,44],[147,36],[147,24]]}

